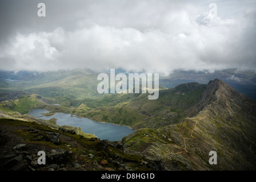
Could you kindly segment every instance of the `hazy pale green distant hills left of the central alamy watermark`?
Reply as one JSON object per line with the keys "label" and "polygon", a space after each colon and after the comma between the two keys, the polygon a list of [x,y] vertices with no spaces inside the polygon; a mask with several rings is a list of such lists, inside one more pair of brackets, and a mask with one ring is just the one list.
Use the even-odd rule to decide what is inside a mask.
{"label": "hazy pale green distant hills left of the central alamy watermark", "polygon": [[[92,71],[71,70],[57,72],[1,72],[0,91],[23,90],[61,101],[97,98],[97,75]],[[5,81],[6,78],[16,81]]]}

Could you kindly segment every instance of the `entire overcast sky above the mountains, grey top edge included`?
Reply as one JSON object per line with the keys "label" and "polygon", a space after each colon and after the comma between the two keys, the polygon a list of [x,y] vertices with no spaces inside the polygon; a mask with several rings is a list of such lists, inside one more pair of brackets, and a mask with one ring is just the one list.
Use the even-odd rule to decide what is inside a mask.
{"label": "entire overcast sky above the mountains, grey top edge included", "polygon": [[256,71],[255,8],[255,0],[1,0],[0,69]]}

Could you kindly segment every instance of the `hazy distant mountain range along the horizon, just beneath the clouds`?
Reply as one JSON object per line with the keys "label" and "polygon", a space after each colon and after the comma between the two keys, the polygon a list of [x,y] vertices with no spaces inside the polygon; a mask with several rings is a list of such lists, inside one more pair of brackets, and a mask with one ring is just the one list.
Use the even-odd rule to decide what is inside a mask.
{"label": "hazy distant mountain range along the horizon, just beneath the clouds", "polygon": [[[125,71],[116,69],[116,73]],[[101,97],[97,91],[97,75],[91,70],[71,70],[55,72],[10,72],[0,71],[0,92],[23,90],[45,97],[66,97],[70,100]],[[174,88],[177,85],[198,82],[207,84],[218,78],[233,86],[239,92],[256,100],[256,73],[226,69],[222,71],[175,71],[169,76],[160,75],[159,85]],[[7,80],[9,79],[9,80]]]}

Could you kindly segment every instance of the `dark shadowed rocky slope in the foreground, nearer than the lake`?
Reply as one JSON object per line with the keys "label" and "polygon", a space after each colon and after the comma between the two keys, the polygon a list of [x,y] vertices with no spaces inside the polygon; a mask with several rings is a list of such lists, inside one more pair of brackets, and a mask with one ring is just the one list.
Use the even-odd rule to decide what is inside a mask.
{"label": "dark shadowed rocky slope in the foreground, nearer than the lake", "polygon": [[[63,130],[62,130],[63,131]],[[157,164],[126,155],[117,142],[63,133],[35,122],[0,119],[0,169],[11,171],[150,170]],[[38,151],[46,164],[38,164]]]}

